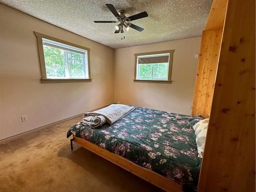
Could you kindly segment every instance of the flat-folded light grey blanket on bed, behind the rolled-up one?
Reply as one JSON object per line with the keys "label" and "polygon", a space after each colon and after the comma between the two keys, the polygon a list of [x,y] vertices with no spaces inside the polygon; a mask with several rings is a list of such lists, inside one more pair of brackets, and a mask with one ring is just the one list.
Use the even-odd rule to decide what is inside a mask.
{"label": "flat-folded light grey blanket on bed, behind the rolled-up one", "polygon": [[134,109],[135,109],[134,106],[128,106],[125,104],[111,104],[111,105],[107,106],[106,108],[102,108],[100,110],[93,111],[93,112],[87,112],[87,113],[84,113],[83,115],[85,117],[103,116],[103,117],[105,117],[106,121],[109,124],[113,124],[114,122],[116,122],[123,116],[127,115]]}

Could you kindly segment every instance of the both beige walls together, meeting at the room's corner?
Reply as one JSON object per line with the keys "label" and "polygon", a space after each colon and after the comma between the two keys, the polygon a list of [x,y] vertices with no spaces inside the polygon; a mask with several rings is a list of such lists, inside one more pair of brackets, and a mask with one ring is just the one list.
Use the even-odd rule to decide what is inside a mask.
{"label": "both beige walls together, meeting at the room's corner", "polygon": [[[0,13],[0,140],[113,102],[191,114],[201,37],[114,51],[2,4]],[[33,31],[90,48],[92,82],[41,84]],[[133,82],[135,53],[170,49],[172,84]]]}

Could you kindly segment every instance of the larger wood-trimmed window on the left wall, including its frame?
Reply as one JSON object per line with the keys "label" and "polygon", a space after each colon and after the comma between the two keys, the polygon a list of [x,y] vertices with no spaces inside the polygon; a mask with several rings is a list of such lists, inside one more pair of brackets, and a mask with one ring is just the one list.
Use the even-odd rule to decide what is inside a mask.
{"label": "larger wood-trimmed window on the left wall, including its frame", "polygon": [[35,32],[41,82],[80,82],[90,79],[90,49]]}

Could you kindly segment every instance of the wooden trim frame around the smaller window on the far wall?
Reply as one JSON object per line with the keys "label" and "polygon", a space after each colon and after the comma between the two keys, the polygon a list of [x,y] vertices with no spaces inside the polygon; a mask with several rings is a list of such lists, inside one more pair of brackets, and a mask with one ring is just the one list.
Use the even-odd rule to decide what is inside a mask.
{"label": "wooden trim frame around the smaller window on the far wall", "polygon": [[[146,52],[146,53],[136,53],[134,54],[135,66],[134,66],[134,82],[154,82],[154,83],[172,83],[172,67],[173,67],[173,50],[164,50],[164,51],[155,51],[155,52]],[[138,70],[138,56],[147,56],[147,55],[158,55],[158,54],[169,54],[169,63],[168,63],[168,78],[167,80],[157,80],[157,79],[138,79],[137,70]]]}

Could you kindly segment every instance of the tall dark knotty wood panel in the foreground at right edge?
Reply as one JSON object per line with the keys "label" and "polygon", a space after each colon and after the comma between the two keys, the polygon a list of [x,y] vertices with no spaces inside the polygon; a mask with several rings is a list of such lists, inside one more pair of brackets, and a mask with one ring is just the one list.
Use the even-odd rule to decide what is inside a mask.
{"label": "tall dark knotty wood panel in the foreground at right edge", "polygon": [[255,191],[255,0],[228,2],[198,191]]}

